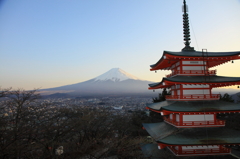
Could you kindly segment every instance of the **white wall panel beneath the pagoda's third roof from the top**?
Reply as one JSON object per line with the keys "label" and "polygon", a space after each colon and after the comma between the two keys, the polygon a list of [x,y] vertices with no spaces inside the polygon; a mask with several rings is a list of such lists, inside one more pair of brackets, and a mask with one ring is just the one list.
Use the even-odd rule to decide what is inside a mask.
{"label": "white wall panel beneath the pagoda's third roof from the top", "polygon": [[183,122],[184,121],[212,121],[214,120],[213,114],[203,114],[203,115],[183,115]]}

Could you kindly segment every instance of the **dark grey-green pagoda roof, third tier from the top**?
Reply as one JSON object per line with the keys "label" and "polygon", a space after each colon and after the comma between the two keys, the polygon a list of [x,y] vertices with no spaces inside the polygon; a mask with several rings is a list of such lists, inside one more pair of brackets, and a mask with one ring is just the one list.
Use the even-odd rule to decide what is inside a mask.
{"label": "dark grey-green pagoda roof, third tier from the top", "polygon": [[221,112],[240,111],[240,104],[220,100],[210,101],[162,101],[147,104],[147,107],[156,111],[170,112]]}

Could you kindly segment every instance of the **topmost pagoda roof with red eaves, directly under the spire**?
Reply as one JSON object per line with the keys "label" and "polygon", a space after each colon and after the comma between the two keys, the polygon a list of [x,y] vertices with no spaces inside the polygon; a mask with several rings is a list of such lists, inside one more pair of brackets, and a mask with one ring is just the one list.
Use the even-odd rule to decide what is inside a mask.
{"label": "topmost pagoda roof with red eaves, directly under the spire", "polygon": [[159,69],[171,69],[176,62],[185,60],[208,61],[208,67],[214,67],[230,60],[239,59],[240,51],[236,52],[201,52],[201,51],[164,51],[162,57],[156,64],[150,65],[151,71]]}

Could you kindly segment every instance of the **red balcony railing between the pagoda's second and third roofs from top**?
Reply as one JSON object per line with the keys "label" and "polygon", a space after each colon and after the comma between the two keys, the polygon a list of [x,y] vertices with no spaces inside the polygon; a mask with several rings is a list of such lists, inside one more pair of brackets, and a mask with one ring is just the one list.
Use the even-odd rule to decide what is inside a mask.
{"label": "red balcony railing between the pagoda's second and third roofs from top", "polygon": [[166,100],[219,100],[220,94],[166,95]]}

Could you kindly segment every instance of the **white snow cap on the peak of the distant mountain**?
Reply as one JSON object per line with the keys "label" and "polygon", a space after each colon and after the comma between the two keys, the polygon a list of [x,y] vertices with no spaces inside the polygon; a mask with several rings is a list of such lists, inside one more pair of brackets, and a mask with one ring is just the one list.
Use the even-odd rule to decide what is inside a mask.
{"label": "white snow cap on the peak of the distant mountain", "polygon": [[94,81],[124,81],[127,79],[134,79],[134,80],[140,80],[139,78],[123,71],[120,68],[112,68],[111,70],[107,71],[106,73],[97,76],[94,78]]}

